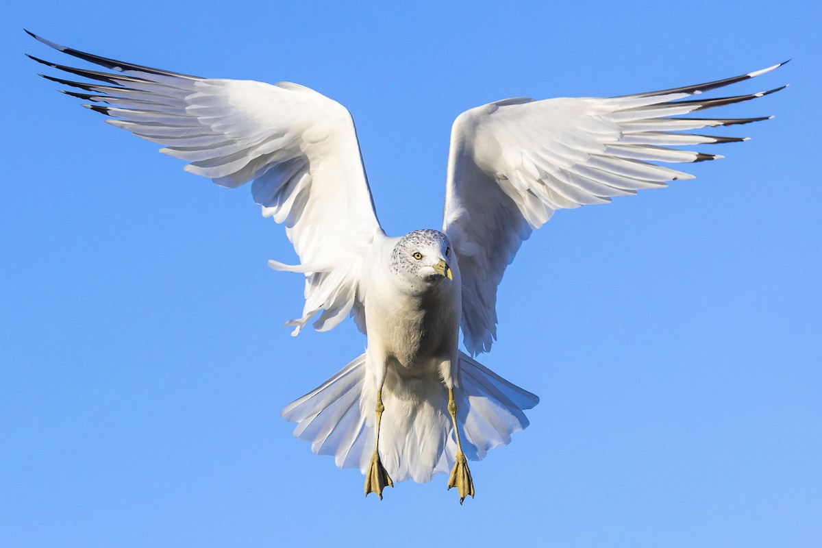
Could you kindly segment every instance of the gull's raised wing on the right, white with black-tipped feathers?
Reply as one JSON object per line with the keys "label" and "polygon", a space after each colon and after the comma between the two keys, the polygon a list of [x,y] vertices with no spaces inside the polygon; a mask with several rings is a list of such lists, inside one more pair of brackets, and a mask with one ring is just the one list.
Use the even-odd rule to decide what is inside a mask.
{"label": "gull's raised wing on the right, white with black-tipped feathers", "polygon": [[491,348],[496,338],[496,286],[534,228],[556,210],[604,204],[612,196],[693,178],[651,162],[722,158],[668,147],[746,140],[681,131],[766,118],[677,116],[783,88],[718,99],[681,99],[780,66],[706,84],[607,99],[506,99],[460,114],[451,130],[443,232],[459,260],[466,348],[474,354]]}

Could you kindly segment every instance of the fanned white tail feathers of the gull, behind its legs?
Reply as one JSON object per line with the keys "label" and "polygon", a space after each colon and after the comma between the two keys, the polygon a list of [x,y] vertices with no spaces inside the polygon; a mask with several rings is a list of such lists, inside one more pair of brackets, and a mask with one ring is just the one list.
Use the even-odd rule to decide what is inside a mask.
{"label": "fanned white tail feathers of the gull, behind its legs", "polygon": [[[338,467],[363,473],[374,450],[376,389],[370,377],[363,354],[283,410],[286,420],[298,423],[294,436],[311,442],[315,454],[333,455]],[[456,443],[448,391],[436,378],[392,377],[382,389],[386,411],[380,430],[380,456],[390,477],[424,483],[450,472]],[[539,402],[463,352],[454,392],[460,440],[470,460],[510,443],[510,435],[529,424],[524,409]]]}

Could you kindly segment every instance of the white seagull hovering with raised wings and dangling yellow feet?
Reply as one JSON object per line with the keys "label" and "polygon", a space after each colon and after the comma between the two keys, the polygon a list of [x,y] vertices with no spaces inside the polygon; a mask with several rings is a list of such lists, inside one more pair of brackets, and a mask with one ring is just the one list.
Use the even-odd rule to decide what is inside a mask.
{"label": "white seagull hovering with raised wings and dangling yellow feet", "polygon": [[[471,108],[451,130],[440,230],[390,237],[377,220],[349,111],[290,82],[202,78],[84,53],[26,32],[105,71],[29,56],[85,81],[73,90],[106,122],[163,145],[185,170],[222,187],[252,182],[262,214],[284,224],[305,306],[290,320],[327,331],[351,316],[367,347],[286,406],[315,454],[365,475],[382,499],[394,481],[449,473],[459,503],[474,496],[469,460],[528,426],[538,397],[474,359],[496,340],[496,288],[534,229],[556,210],[694,178],[659,163],[723,158],[684,150],[747,140],[688,131],[769,117],[683,117],[775,91],[702,94],[782,66],[704,84],[607,98],[504,99]],[[80,91],[77,91],[80,90]],[[688,99],[690,98],[690,99]],[[467,352],[459,349],[459,332]]]}

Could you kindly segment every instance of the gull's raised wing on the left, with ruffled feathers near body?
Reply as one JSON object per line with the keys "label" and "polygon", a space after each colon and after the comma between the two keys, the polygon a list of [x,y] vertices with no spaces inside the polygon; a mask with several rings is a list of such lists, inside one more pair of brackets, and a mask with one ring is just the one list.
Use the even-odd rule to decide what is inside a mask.
{"label": "gull's raised wing on the left, with ruffled feathers near body", "polygon": [[[82,90],[65,91],[93,104],[115,127],[164,145],[160,152],[189,162],[186,171],[223,187],[254,181],[262,212],[284,223],[301,265],[270,261],[306,275],[302,317],[318,330],[358,311],[367,247],[382,234],[348,110],[302,85],[200,78],[101,58],[35,39],[106,72],[49,67],[82,76],[78,82],[44,76]],[[31,56],[29,56],[31,57]],[[100,83],[102,82],[102,83]],[[364,315],[355,318],[364,329]]]}

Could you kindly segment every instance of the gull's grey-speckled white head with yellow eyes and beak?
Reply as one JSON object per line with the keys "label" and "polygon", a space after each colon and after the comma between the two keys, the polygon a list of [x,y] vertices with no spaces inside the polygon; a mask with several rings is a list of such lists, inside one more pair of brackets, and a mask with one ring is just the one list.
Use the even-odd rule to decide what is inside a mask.
{"label": "gull's grey-speckled white head with yellow eyes and beak", "polygon": [[454,251],[448,237],[436,230],[415,230],[406,234],[391,253],[391,269],[412,282],[453,282],[454,266]]}

